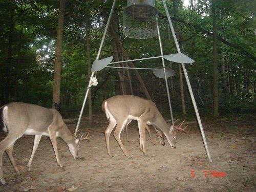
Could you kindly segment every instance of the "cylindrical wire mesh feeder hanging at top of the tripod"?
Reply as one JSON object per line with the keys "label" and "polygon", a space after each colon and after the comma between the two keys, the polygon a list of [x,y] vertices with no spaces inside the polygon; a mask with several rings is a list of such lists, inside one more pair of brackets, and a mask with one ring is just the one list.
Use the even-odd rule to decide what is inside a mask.
{"label": "cylindrical wire mesh feeder hanging at top of the tripod", "polygon": [[123,11],[123,34],[136,39],[157,36],[155,0],[127,0]]}

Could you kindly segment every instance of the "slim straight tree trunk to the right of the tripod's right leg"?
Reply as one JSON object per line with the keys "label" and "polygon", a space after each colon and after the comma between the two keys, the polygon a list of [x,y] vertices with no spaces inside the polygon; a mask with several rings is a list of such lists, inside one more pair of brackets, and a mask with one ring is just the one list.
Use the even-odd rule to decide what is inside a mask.
{"label": "slim straight tree trunk to the right of the tripod's right leg", "polygon": [[216,8],[214,1],[212,2],[212,23],[213,23],[213,49],[214,49],[214,117],[218,117],[219,108],[219,91],[218,91],[218,73],[217,73],[217,22]]}

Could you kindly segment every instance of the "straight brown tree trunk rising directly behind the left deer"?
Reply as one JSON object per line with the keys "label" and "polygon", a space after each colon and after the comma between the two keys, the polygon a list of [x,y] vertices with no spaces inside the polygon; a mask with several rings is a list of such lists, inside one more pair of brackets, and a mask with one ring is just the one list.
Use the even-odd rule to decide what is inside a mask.
{"label": "straight brown tree trunk rising directly behind the left deer", "polygon": [[55,103],[60,102],[61,48],[62,48],[65,3],[66,3],[66,0],[60,0],[60,3],[59,3],[59,18],[58,18],[57,39],[56,39],[55,58],[54,58],[54,82],[53,82],[52,108],[54,108]]}

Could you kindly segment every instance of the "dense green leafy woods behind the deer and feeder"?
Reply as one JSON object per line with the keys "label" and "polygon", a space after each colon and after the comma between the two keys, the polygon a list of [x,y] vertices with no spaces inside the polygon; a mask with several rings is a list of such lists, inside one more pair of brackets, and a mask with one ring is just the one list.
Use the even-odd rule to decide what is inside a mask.
{"label": "dense green leafy woods behind the deer and feeder", "polygon": [[[51,108],[60,102],[65,118],[78,117],[112,3],[0,1],[0,104],[23,101]],[[184,6],[181,0],[167,0],[166,4],[182,53],[195,60],[186,69],[200,114],[206,118],[255,112],[256,2],[189,0]],[[138,40],[123,36],[125,6],[126,1],[117,1],[101,58],[114,56],[120,61],[159,56],[156,37]],[[162,1],[156,0],[156,7],[163,52],[177,53]],[[161,65],[161,59],[122,64],[141,68]],[[165,65],[175,71],[168,79],[174,116],[194,119],[179,64]],[[92,87],[84,112],[90,112],[90,121],[93,113],[101,111],[102,101],[117,94],[151,98],[161,113],[168,115],[165,82],[152,71],[105,68],[96,76],[99,83]],[[92,106],[89,112],[88,105]]]}

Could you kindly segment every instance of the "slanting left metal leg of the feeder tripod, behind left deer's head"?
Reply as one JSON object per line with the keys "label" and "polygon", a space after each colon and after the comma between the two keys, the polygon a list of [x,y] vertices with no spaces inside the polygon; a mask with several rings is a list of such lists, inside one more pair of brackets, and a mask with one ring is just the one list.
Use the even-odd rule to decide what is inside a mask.
{"label": "slanting left metal leg of the feeder tripod, behind left deer's head", "polygon": [[[103,47],[103,43],[105,41],[106,32],[109,29],[110,20],[111,20],[111,16],[112,16],[114,8],[115,8],[115,4],[116,4],[116,0],[114,0],[114,2],[113,2],[113,5],[112,5],[111,11],[110,11],[110,16],[109,16],[108,22],[106,23],[105,31],[104,31],[102,39],[101,39],[101,43],[100,43],[100,46],[99,46],[99,50],[98,50],[98,54],[97,54],[96,59],[99,59],[99,56],[100,56],[100,53],[101,53],[101,50],[102,50],[102,47]],[[90,78],[89,83],[88,83],[88,87],[87,87],[87,91],[86,91],[86,96],[84,96],[84,99],[83,99],[82,108],[81,108],[80,115],[79,115],[78,120],[77,120],[74,136],[76,136],[76,133],[77,133],[80,121],[81,121],[81,117],[82,117],[82,113],[83,113],[83,110],[84,110],[84,106],[86,105],[86,100],[87,100],[87,97],[88,97],[88,93],[89,93],[90,88],[92,86],[92,79],[93,79],[94,73],[95,72],[92,72],[91,78]]]}

